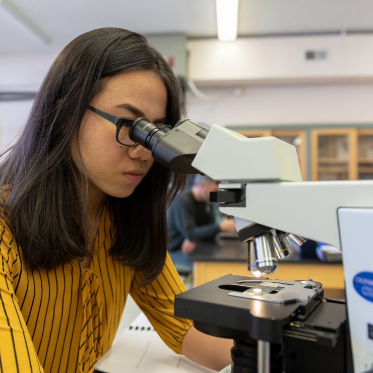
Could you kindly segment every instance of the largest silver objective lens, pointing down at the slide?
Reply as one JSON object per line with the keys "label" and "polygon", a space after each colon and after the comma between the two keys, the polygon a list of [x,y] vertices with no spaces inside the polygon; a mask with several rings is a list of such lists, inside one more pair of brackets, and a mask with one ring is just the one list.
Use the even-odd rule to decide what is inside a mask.
{"label": "largest silver objective lens, pointing down at the slide", "polygon": [[254,238],[254,250],[257,257],[256,265],[261,273],[269,275],[277,269],[275,248],[272,233],[267,232]]}

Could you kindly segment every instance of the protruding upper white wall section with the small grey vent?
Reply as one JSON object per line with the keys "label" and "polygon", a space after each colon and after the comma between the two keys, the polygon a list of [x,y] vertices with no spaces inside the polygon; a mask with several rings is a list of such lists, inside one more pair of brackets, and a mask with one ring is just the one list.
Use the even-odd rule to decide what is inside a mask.
{"label": "protruding upper white wall section with the small grey vent", "polygon": [[373,78],[371,34],[195,39],[187,48],[188,77],[201,83]]}

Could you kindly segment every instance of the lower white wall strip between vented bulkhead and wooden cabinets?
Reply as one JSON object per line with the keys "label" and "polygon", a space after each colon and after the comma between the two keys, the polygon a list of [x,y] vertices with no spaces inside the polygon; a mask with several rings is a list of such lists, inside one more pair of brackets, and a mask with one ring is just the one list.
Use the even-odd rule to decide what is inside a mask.
{"label": "lower white wall strip between vented bulkhead and wooden cabinets", "polygon": [[188,93],[188,116],[221,126],[371,123],[373,84],[266,85]]}

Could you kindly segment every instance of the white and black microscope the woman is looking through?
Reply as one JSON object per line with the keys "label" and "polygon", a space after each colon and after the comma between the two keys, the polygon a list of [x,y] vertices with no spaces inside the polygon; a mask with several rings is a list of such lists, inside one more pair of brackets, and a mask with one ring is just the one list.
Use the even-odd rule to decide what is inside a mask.
{"label": "white and black microscope the woman is looking through", "polygon": [[[373,372],[373,180],[301,181],[292,145],[189,119],[138,118],[130,137],[174,172],[219,180],[213,202],[247,242],[252,276],[224,275],[175,299],[176,316],[233,339],[224,372]],[[342,251],[347,303],[324,298],[317,279],[266,278],[303,237]]]}

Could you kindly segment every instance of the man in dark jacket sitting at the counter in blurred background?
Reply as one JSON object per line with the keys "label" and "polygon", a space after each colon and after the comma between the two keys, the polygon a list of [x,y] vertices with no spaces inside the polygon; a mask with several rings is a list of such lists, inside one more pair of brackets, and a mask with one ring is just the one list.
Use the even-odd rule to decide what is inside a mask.
{"label": "man in dark jacket sitting at the counter in blurred background", "polygon": [[217,190],[217,181],[196,175],[191,190],[181,194],[167,209],[168,251],[174,263],[192,268],[188,254],[194,251],[198,240],[213,238],[221,231],[236,231],[233,219],[216,222],[210,192]]}

